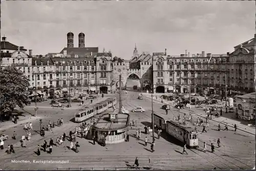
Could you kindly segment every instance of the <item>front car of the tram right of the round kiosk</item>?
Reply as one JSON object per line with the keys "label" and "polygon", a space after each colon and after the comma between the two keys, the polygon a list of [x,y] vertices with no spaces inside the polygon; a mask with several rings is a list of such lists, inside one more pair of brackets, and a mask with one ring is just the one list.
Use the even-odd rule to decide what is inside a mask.
{"label": "front car of the tram right of the round kiosk", "polygon": [[178,121],[166,121],[165,129],[167,134],[186,143],[188,147],[198,147],[198,133],[192,127],[180,124]]}

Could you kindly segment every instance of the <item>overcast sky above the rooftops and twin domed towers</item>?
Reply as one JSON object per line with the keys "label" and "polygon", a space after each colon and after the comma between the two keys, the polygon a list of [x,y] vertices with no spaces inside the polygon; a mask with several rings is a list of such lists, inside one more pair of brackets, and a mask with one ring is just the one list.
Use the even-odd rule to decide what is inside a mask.
{"label": "overcast sky above the rooftops and twin domed towers", "polygon": [[129,59],[139,52],[219,54],[255,33],[253,1],[2,1],[8,41],[33,54],[60,52],[67,33],[86,34],[86,47]]}

